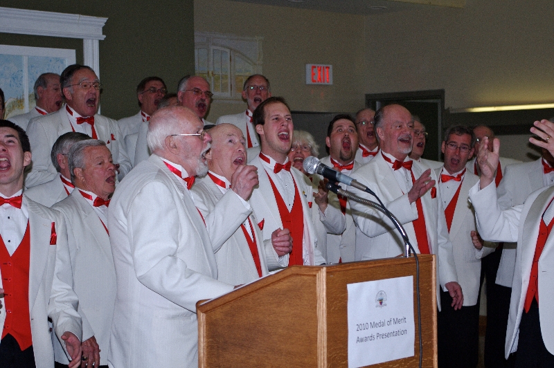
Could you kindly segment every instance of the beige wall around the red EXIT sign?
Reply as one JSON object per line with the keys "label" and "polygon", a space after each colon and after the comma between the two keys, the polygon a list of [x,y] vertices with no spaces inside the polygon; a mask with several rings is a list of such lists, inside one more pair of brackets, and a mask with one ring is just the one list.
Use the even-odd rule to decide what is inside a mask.
{"label": "beige wall around the red EXIT sign", "polygon": [[[263,74],[273,95],[296,111],[357,111],[364,106],[364,17],[195,0],[195,30],[262,36]],[[305,84],[305,64],[332,64],[332,86]],[[244,111],[246,104],[213,101],[207,120]]]}

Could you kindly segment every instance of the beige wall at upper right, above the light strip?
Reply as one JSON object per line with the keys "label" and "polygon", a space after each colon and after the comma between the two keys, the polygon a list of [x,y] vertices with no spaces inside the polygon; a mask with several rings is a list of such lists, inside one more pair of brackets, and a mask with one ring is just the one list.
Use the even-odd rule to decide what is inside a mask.
{"label": "beige wall at upper right, above the light strip", "polygon": [[467,0],[366,17],[366,91],[445,89],[446,107],[554,100],[554,3]]}

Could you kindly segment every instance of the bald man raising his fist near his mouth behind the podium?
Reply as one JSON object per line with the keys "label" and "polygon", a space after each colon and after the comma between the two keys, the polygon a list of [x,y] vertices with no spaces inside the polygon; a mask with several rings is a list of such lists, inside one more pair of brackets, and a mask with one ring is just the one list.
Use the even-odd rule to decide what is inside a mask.
{"label": "bald man raising his fist near his mouth behind the podium", "polygon": [[[244,207],[251,212],[247,202],[253,186],[258,184],[255,166],[246,165],[246,142],[242,131],[231,124],[217,125],[210,129],[211,149],[208,152],[208,175],[197,181],[193,196],[197,208],[205,218],[219,216],[235,220],[229,208],[221,208],[218,203],[230,192],[244,201]],[[240,181],[240,178],[244,178]],[[215,250],[217,279],[231,285],[247,284],[267,275],[265,243],[253,212],[247,215],[225,243]],[[209,219],[206,219],[208,226]],[[220,226],[221,228],[221,226]],[[212,236],[212,230],[208,228]]]}

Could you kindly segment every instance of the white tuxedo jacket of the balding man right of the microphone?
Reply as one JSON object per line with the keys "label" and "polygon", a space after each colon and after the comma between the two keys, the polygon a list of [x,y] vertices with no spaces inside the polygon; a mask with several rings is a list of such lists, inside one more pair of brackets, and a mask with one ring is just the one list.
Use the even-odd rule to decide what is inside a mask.
{"label": "white tuxedo jacket of the balding man right of the microphone", "polygon": [[[414,161],[412,171],[416,179],[425,170],[427,167]],[[415,238],[412,224],[412,221],[418,218],[415,202],[410,205],[408,194],[402,193],[391,167],[384,160],[382,154],[377,154],[370,163],[357,169],[352,173],[352,178],[366,185],[379,196],[388,211],[402,223],[413,248],[419,253],[418,241]],[[431,179],[437,181],[433,170],[431,170]],[[437,256],[437,305],[440,311],[440,293],[438,292],[440,286],[445,286],[448,282],[457,282],[458,277],[454,265],[452,243],[449,240],[446,226],[445,211],[440,203],[438,187],[436,185],[435,187],[436,195],[431,196],[431,192],[435,191],[429,190],[421,197],[421,203],[425,214],[429,250]],[[356,189],[353,189],[352,192],[370,201],[375,201],[373,196],[366,192]],[[393,223],[384,217],[384,214],[354,201],[350,201],[350,208],[352,208],[352,217],[358,226],[356,261],[396,257],[404,252],[404,241],[402,241],[400,233]]]}

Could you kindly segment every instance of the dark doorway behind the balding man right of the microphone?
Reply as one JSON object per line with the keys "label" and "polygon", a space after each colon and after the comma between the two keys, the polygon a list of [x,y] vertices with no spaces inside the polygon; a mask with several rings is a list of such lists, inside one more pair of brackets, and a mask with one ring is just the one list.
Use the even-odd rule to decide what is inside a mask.
{"label": "dark doorway behind the balding man right of the microphone", "polygon": [[440,160],[445,115],[445,90],[375,93],[366,95],[366,106],[377,111],[388,104],[401,104],[421,119],[429,133],[423,158]]}

